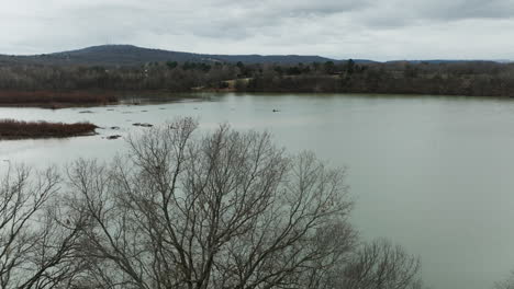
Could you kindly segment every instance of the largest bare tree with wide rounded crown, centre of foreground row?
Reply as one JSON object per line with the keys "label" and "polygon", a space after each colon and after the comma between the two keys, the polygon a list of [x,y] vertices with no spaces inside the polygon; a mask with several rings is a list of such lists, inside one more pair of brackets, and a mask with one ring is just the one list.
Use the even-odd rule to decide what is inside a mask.
{"label": "largest bare tree with wide rounded crown, centre of foreground row", "polygon": [[344,171],[312,153],[289,157],[266,132],[222,125],[197,137],[197,126],[179,119],[131,138],[113,163],[68,170],[75,209],[90,216],[90,279],[104,288],[320,284],[355,241]]}

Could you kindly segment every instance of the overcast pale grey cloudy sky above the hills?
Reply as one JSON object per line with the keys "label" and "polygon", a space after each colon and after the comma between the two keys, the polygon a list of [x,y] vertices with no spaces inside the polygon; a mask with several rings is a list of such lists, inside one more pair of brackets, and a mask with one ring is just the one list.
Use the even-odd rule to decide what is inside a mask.
{"label": "overcast pale grey cloudy sky above the hills", "polygon": [[514,59],[514,0],[0,2],[0,54],[133,44],[338,59]]}

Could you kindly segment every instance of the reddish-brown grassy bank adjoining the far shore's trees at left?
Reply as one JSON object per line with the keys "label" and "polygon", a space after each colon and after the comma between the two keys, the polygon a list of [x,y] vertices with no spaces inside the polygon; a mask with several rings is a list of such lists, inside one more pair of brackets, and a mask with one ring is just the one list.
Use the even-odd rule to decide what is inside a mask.
{"label": "reddish-brown grassy bank adjoining the far shore's trees at left", "polygon": [[118,102],[118,96],[107,92],[0,91],[0,106],[62,108],[105,105],[115,102]]}

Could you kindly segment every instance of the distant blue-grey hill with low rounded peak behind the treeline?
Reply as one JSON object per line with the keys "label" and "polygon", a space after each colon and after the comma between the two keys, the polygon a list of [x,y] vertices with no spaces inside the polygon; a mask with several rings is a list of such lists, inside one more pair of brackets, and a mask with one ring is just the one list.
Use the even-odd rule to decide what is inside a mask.
{"label": "distant blue-grey hill with low rounded peak behind the treeline", "polygon": [[321,56],[301,55],[208,55],[142,48],[133,45],[102,45],[78,50],[31,55],[0,55],[0,63],[137,66],[154,61],[205,61],[244,63],[299,63],[337,61]]}

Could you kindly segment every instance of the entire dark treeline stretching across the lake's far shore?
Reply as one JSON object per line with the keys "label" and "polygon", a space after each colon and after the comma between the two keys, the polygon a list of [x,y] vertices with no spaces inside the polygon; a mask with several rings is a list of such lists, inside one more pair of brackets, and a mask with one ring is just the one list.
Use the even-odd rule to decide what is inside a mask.
{"label": "entire dark treeline stretching across the lake's far shore", "polygon": [[514,96],[514,65],[492,61],[244,65],[150,62],[138,67],[0,66],[0,90],[349,92]]}

